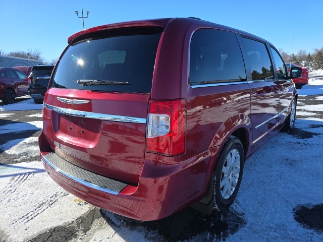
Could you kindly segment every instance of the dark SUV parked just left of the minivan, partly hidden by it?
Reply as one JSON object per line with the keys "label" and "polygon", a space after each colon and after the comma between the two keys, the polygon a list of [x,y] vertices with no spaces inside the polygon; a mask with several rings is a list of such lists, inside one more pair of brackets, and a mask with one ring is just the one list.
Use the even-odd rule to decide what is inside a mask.
{"label": "dark SUV parked just left of the minivan, partly hidden by it", "polygon": [[55,65],[37,65],[27,78],[28,93],[35,103],[43,103],[50,75]]}

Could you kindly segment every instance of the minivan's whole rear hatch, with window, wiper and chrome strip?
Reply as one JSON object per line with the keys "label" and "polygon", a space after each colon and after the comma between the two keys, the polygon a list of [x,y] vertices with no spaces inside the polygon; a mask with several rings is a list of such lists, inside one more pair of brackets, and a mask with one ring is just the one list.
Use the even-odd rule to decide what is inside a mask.
{"label": "minivan's whole rear hatch, with window, wiper and chrome strip", "polygon": [[93,32],[72,42],[53,72],[43,133],[55,153],[137,184],[162,28]]}

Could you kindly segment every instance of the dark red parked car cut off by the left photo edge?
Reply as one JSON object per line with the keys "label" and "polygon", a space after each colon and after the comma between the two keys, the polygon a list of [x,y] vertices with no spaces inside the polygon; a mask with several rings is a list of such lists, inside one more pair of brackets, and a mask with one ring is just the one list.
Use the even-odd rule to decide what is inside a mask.
{"label": "dark red parked car cut off by the left photo edge", "polygon": [[14,103],[16,97],[28,95],[27,76],[14,68],[0,68],[0,99]]}

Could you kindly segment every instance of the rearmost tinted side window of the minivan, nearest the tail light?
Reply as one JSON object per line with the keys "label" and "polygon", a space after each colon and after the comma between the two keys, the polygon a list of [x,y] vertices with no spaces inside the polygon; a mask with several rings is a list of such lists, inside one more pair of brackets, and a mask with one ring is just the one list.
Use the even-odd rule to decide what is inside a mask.
{"label": "rearmost tinted side window of the minivan, nearest the tail light", "polygon": [[190,84],[246,81],[243,58],[233,32],[201,29],[190,47]]}

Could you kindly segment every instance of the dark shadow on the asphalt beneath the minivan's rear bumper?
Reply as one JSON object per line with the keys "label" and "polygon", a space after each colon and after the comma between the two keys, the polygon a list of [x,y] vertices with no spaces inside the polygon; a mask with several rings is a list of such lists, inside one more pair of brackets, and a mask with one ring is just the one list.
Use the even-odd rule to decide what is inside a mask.
{"label": "dark shadow on the asphalt beneath the minivan's rear bumper", "polygon": [[[225,240],[229,235],[236,233],[247,222],[244,214],[232,208],[223,212],[213,211],[211,215],[202,214],[192,208],[186,208],[174,215],[156,221],[138,223],[133,219],[113,214],[100,209],[105,221],[118,230],[127,226],[129,230],[141,231],[147,240],[151,241],[214,241]],[[120,231],[118,233],[123,236]],[[129,238],[124,238],[126,241]]]}

